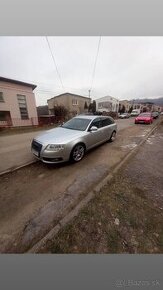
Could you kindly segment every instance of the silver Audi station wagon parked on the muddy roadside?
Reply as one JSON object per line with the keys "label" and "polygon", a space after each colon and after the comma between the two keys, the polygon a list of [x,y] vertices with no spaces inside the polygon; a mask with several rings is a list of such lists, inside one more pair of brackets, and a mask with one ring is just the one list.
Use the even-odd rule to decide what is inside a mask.
{"label": "silver Audi station wagon parked on the muddy roadside", "polygon": [[32,140],[34,156],[45,163],[79,162],[86,151],[106,141],[114,141],[117,125],[108,116],[78,115],[62,126]]}

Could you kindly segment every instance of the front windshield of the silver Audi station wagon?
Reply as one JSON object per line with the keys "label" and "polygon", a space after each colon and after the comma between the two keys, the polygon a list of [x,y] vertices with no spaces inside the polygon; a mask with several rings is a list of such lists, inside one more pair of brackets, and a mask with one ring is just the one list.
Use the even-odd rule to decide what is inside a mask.
{"label": "front windshield of the silver Audi station wagon", "polygon": [[73,118],[66,122],[62,127],[66,129],[85,131],[90,122],[90,119]]}

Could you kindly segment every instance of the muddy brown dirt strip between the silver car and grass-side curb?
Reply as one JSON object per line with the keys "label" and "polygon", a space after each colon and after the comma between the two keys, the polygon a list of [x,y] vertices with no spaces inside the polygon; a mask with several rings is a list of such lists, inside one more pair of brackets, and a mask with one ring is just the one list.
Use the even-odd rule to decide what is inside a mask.
{"label": "muddy brown dirt strip between the silver car and grass-side curb", "polygon": [[0,252],[24,252],[30,248],[152,127],[132,126],[130,120],[125,121],[128,127],[120,130],[115,142],[92,150],[80,163],[47,166],[37,162],[0,177]]}

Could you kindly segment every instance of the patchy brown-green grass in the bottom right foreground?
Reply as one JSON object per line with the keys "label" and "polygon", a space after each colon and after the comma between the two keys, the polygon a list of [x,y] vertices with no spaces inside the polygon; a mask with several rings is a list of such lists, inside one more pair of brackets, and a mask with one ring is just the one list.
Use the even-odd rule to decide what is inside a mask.
{"label": "patchy brown-green grass in the bottom right foreground", "polygon": [[[118,219],[119,224],[115,223]],[[163,212],[117,175],[63,228],[52,253],[162,253]]]}

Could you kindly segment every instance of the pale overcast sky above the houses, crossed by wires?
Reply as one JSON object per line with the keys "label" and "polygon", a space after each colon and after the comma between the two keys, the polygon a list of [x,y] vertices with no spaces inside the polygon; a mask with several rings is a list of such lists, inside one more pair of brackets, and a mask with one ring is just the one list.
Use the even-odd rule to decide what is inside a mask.
{"label": "pale overcast sky above the houses, crossed by wires", "polygon": [[[37,105],[63,92],[88,96],[99,37],[0,37],[0,76],[31,82]],[[62,87],[62,84],[63,87]],[[91,97],[163,96],[163,37],[101,37]]]}

